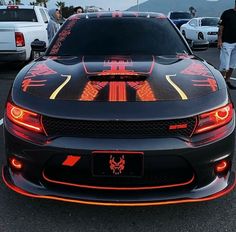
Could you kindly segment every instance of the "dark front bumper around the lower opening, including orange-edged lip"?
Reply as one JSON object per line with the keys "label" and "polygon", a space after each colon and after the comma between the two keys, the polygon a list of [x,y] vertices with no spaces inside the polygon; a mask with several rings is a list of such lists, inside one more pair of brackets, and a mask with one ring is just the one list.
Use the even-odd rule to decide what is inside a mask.
{"label": "dark front bumper around the lower opening, including orange-edged lip", "polygon": [[[212,200],[229,193],[236,185],[231,168],[218,175],[214,165],[222,159],[232,163],[234,152],[234,121],[209,135],[199,135],[191,141],[179,138],[158,139],[81,139],[56,138],[48,143],[35,144],[19,138],[5,123],[6,159],[2,169],[5,184],[12,190],[35,198],[46,198],[81,204],[106,206],[148,206]],[[8,130],[9,129],[9,130]],[[223,132],[224,131],[224,132]],[[225,133],[227,131],[227,133]],[[206,138],[204,138],[206,137]],[[214,138],[214,139],[213,139]],[[164,188],[97,188],[73,183],[50,182],[43,171],[55,155],[82,155],[89,157],[93,151],[142,151],[147,159],[176,156],[192,168],[194,179],[183,186]],[[27,167],[14,171],[9,166],[12,155]],[[152,160],[152,162],[154,162]]]}

